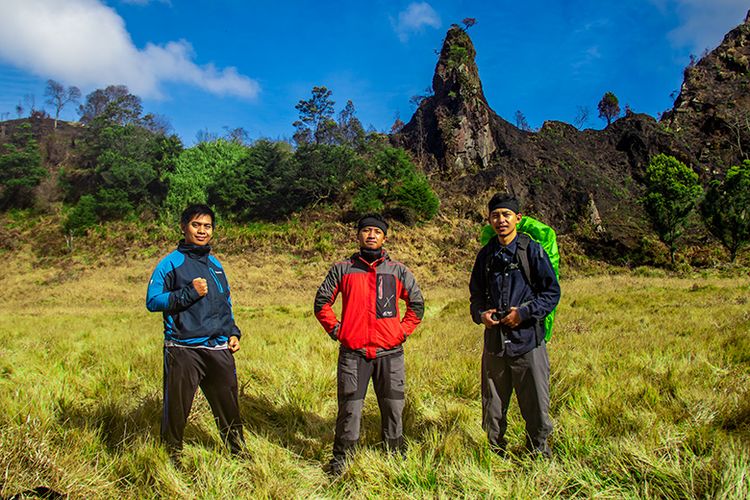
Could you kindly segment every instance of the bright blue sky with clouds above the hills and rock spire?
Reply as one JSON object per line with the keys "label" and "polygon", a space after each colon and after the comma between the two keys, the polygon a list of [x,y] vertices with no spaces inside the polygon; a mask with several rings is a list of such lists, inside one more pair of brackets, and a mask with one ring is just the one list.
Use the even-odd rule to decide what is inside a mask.
{"label": "bright blue sky with clouds above the hills and rock spire", "polygon": [[[186,145],[200,130],[288,138],[314,85],[367,127],[408,121],[445,32],[465,17],[490,106],[532,127],[572,122],[612,91],[656,116],[690,54],[740,24],[746,0],[0,0],[0,117],[52,78],[84,95],[125,84]],[[27,101],[28,103],[28,101]],[[28,105],[26,106],[28,108]],[[51,112],[51,107],[46,106]],[[75,120],[71,106],[62,118]]]}

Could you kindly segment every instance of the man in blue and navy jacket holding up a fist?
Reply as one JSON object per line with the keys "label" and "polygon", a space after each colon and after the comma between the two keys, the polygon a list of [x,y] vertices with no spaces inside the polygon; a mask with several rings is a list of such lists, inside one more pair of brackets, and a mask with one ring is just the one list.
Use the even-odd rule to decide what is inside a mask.
{"label": "man in blue and navy jacket holding up a fist", "polygon": [[232,453],[244,447],[234,353],[240,330],[234,322],[229,283],[209,245],[214,212],[190,205],[180,217],[184,239],[154,269],[146,307],[164,316],[164,407],[161,439],[173,459],[195,392],[200,386],[219,432]]}

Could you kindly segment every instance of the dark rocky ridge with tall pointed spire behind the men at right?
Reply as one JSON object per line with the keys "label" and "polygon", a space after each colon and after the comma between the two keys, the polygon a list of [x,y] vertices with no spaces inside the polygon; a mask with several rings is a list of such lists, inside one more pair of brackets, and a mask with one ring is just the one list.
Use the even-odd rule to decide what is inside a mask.
{"label": "dark rocky ridge with tall pointed spire behind the men at right", "polygon": [[[737,112],[750,137],[748,31],[746,21],[688,70],[675,110],[662,122],[628,112],[604,130],[550,121],[527,132],[492,111],[471,39],[453,26],[435,68],[434,95],[392,140],[430,176],[443,211],[478,219],[491,193],[508,190],[521,198],[526,212],[563,233],[575,230],[633,247],[647,231],[638,199],[653,155],[674,155],[706,179],[708,159],[721,157],[728,165],[738,158],[728,153],[731,127],[726,119],[717,125],[717,110]],[[704,66],[711,68],[711,78]],[[706,139],[697,145],[696,137]],[[744,141],[739,148],[750,151]]]}

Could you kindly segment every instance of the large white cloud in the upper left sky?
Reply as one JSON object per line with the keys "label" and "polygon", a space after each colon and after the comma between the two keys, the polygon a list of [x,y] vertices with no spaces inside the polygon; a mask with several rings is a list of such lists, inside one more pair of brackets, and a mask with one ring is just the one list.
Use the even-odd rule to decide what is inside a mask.
{"label": "large white cloud in the upper left sky", "polygon": [[163,97],[163,82],[213,94],[254,98],[255,80],[236,68],[199,66],[185,40],[133,44],[123,19],[99,0],[0,1],[0,60],[80,87],[124,84],[142,97]]}

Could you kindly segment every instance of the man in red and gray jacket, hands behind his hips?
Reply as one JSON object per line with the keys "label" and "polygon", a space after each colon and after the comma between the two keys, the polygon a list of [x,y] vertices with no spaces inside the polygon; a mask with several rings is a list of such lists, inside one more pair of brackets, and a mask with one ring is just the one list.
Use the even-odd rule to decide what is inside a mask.
{"label": "man in red and gray jacket, hands behind his hips", "polygon": [[[422,292],[414,275],[383,250],[388,224],[380,215],[357,223],[359,252],[335,263],[315,296],[315,317],[341,346],[337,368],[338,416],[333,475],[344,470],[346,456],[359,439],[367,385],[372,378],[386,449],[404,453],[401,414],[404,410],[404,348],[402,344],[424,314]],[[341,294],[341,320],[332,305]],[[398,300],[406,303],[401,318]]]}

